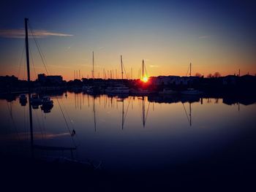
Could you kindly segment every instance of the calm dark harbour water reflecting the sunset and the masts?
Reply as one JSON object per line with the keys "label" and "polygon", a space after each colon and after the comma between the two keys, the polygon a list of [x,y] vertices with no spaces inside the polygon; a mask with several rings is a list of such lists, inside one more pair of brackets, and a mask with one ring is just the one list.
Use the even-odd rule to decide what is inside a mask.
{"label": "calm dark harbour water reflecting the sunset and the masts", "polygon": [[[254,99],[83,93],[51,99],[52,109],[32,109],[34,145],[77,149],[72,153],[35,149],[31,158],[28,104],[22,106],[18,98],[2,99],[0,152],[5,182],[47,185],[65,180],[88,191],[255,187]],[[55,164],[60,157],[100,167],[91,171]]]}

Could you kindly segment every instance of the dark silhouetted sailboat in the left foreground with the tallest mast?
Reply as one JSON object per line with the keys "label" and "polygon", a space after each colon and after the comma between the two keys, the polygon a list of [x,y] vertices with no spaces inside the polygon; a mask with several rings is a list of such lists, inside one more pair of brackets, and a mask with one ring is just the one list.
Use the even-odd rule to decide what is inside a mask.
{"label": "dark silhouetted sailboat in the left foreground with the tallest mast", "polygon": [[[75,164],[83,164],[88,166],[89,168],[92,169],[97,169],[101,163],[99,163],[99,165],[94,166],[94,164],[91,164],[90,162],[84,162],[84,161],[76,161],[73,158],[73,151],[77,150],[77,147],[57,147],[57,146],[42,146],[42,145],[35,145],[34,144],[34,134],[33,134],[33,120],[32,120],[32,107],[31,107],[31,103],[32,103],[32,99],[31,99],[31,80],[30,80],[30,66],[29,66],[29,37],[28,37],[28,18],[25,18],[25,43],[26,43],[26,66],[27,66],[27,77],[28,77],[28,85],[29,85],[29,128],[30,128],[30,145],[31,145],[31,158],[34,160],[34,150],[51,150],[51,151],[64,151],[64,150],[68,150],[71,152],[72,158],[63,158],[63,157],[50,157],[50,158],[54,158],[53,161],[56,162],[57,161],[61,161],[64,163],[75,163]],[[58,100],[57,100],[58,101]],[[58,101],[59,102],[59,101]],[[45,98],[45,104],[52,104],[50,102],[49,98]],[[71,137],[72,134],[75,133],[75,130],[72,131],[72,133],[70,133]],[[42,159],[40,159],[42,160]],[[49,158],[47,158],[46,161],[48,161]]]}

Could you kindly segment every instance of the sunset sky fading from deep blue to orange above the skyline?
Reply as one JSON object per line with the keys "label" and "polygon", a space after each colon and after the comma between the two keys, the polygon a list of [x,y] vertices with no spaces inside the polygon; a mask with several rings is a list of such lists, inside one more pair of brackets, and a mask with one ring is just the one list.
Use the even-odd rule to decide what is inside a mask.
{"label": "sunset sky fading from deep blue to orange above the skyline", "polygon": [[[256,74],[256,3],[253,1],[1,1],[0,75],[26,79],[24,18],[29,18],[45,61],[30,35],[32,80],[60,74],[64,80],[103,70],[138,78],[219,72]],[[116,75],[117,74],[117,75]]]}

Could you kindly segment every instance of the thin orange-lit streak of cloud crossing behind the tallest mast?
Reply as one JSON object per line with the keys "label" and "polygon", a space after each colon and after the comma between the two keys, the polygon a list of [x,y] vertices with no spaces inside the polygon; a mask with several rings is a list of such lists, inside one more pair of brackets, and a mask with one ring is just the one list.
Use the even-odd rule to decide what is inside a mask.
{"label": "thin orange-lit streak of cloud crossing behind the tallest mast", "polygon": [[[32,37],[31,31],[29,32],[29,37]],[[44,37],[71,37],[72,34],[62,34],[47,30],[34,30],[33,31],[34,37],[37,38],[44,38]],[[0,37],[4,38],[24,38],[25,31],[24,29],[0,29]]]}

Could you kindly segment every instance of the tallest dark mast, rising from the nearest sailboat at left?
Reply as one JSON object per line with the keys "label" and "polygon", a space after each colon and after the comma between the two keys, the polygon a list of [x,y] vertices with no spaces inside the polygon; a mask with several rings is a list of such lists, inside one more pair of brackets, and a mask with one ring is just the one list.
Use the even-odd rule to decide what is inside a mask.
{"label": "tallest dark mast, rising from the nearest sailboat at left", "polygon": [[[32,109],[31,109],[31,82],[30,82],[30,69],[29,69],[29,37],[28,37],[28,18],[25,18],[25,33],[26,33],[26,68],[28,72],[28,85],[29,85],[29,126],[30,126],[30,140],[31,140],[31,148],[34,144],[33,139],[33,121],[32,121]],[[33,150],[32,150],[33,155]]]}

